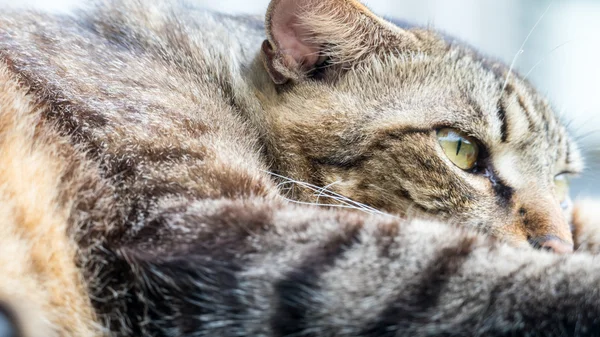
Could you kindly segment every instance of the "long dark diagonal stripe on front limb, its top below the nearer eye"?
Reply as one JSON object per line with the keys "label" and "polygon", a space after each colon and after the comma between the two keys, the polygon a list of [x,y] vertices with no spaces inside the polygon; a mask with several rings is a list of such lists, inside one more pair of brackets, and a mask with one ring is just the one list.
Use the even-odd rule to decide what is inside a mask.
{"label": "long dark diagonal stripe on front limb, its top below the nearer eye", "polygon": [[399,289],[399,295],[359,335],[395,337],[412,324],[428,322],[429,313],[436,309],[450,278],[460,270],[474,245],[475,238],[465,237],[456,246],[440,250],[418,280]]}

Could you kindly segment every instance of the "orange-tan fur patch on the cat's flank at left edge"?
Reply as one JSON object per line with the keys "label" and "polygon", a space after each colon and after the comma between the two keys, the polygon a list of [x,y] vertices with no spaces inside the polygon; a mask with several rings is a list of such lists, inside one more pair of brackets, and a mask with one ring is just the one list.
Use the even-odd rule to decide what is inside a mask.
{"label": "orange-tan fur patch on the cat's flank at left edge", "polygon": [[22,336],[100,336],[67,235],[80,168],[46,110],[0,64],[0,301]]}

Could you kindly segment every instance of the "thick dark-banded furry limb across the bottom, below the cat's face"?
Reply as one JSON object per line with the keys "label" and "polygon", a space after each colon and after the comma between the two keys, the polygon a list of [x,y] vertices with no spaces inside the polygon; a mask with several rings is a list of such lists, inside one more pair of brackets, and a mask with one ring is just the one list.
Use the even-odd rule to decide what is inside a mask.
{"label": "thick dark-banded furry limb across the bottom, below the cat's face", "polygon": [[600,334],[594,257],[435,222],[190,202],[97,254],[96,304],[117,335]]}

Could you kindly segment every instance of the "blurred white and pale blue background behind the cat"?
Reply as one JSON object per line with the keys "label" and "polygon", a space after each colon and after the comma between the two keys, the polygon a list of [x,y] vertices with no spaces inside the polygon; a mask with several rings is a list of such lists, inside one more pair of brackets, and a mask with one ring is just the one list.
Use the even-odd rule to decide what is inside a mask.
{"label": "blurred white and pale blue background behind the cat", "polygon": [[[191,0],[193,1],[193,0]],[[195,0],[262,14],[268,0]],[[363,0],[376,13],[459,37],[526,75],[570,122],[588,157],[574,196],[600,195],[600,0]],[[81,0],[0,0],[68,11]]]}

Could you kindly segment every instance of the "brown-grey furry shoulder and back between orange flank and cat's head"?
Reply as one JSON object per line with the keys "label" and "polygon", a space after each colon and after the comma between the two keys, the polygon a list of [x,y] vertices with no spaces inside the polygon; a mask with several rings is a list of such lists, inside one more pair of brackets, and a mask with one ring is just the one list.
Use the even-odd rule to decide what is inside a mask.
{"label": "brown-grey furry shoulder and back between orange flank and cat's head", "polygon": [[7,13],[0,57],[56,102],[49,118],[135,196],[123,211],[145,212],[165,195],[229,196],[224,182],[274,191],[256,131],[232,103],[255,57],[250,46],[263,39],[259,22],[167,1],[105,2],[74,16]]}

